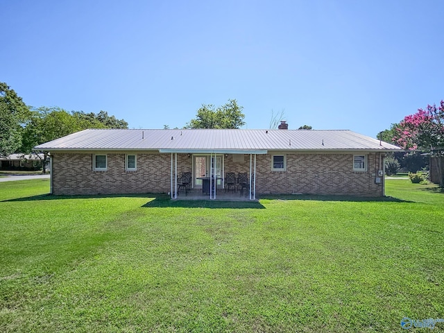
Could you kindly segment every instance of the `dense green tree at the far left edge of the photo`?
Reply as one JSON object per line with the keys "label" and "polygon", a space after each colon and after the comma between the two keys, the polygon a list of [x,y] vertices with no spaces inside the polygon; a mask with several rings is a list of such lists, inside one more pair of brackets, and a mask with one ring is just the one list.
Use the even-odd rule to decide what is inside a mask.
{"label": "dense green tree at the far left edge of the photo", "polygon": [[0,156],[17,152],[29,109],[13,89],[0,82]]}

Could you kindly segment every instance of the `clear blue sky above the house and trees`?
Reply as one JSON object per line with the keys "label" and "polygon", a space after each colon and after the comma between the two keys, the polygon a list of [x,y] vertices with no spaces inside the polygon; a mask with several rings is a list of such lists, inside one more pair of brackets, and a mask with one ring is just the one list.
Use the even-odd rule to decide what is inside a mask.
{"label": "clear blue sky above the house and trees", "polygon": [[203,103],[244,128],[375,137],[444,99],[444,1],[3,1],[0,81],[25,103],[185,126]]}

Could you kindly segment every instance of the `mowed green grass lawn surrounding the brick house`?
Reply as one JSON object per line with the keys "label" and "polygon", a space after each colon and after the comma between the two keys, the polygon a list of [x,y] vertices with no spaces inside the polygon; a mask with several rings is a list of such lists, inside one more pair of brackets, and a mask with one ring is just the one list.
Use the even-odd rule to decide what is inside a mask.
{"label": "mowed green grass lawn surrounding the brick house", "polygon": [[434,185],[259,203],[48,191],[0,183],[1,332],[393,332],[444,318]]}

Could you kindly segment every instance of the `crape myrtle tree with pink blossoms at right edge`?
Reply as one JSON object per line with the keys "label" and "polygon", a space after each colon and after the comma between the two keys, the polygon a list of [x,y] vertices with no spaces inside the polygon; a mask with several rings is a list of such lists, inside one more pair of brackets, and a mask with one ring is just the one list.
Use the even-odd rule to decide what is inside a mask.
{"label": "crape myrtle tree with pink blossoms at right edge", "polygon": [[425,151],[436,159],[440,186],[444,187],[444,101],[436,105],[427,105],[426,110],[418,109],[400,122],[393,141],[408,151]]}

